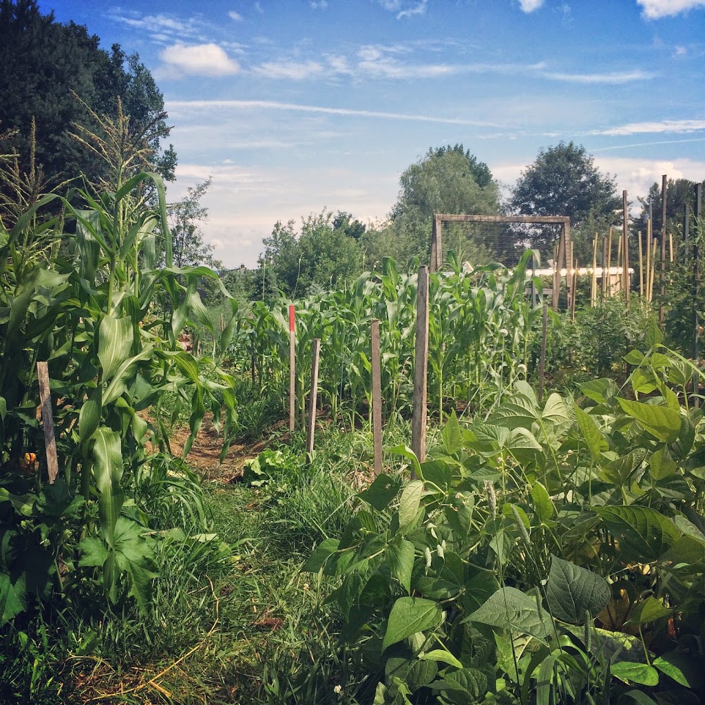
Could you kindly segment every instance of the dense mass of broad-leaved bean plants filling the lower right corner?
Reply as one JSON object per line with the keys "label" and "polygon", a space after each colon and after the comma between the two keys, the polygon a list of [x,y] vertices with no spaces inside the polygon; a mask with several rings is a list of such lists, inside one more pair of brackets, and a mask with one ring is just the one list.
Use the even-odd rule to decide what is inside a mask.
{"label": "dense mass of broad-leaved bean plants filling the lower right corner", "polygon": [[520,382],[489,419],[452,415],[426,462],[394,449],[420,479],[378,477],[314,551],[303,570],[340,581],[327,601],[369,674],[360,701],[692,697],[702,417],[682,358],[655,340],[627,359],[629,385],[584,385],[585,409]]}

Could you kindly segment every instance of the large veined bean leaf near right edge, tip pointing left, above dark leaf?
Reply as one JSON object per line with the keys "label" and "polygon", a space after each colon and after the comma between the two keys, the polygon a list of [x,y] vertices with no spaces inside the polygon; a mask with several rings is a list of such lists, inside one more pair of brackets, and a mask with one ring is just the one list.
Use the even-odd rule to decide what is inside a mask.
{"label": "large veined bean leaf near right edge, tip pointing left, above dark leaf", "polygon": [[673,522],[649,507],[618,505],[592,510],[617,537],[624,555],[640,563],[658,560],[681,536]]}

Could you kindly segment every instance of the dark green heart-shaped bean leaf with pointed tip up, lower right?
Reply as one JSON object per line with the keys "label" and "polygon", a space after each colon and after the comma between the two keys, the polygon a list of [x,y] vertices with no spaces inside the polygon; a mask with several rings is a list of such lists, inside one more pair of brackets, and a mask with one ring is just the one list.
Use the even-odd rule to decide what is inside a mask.
{"label": "dark green heart-shaped bean leaf with pointed tip up, lower right", "polygon": [[594,617],[609,602],[610,589],[594,572],[552,555],[546,600],[556,619],[584,624],[586,612]]}

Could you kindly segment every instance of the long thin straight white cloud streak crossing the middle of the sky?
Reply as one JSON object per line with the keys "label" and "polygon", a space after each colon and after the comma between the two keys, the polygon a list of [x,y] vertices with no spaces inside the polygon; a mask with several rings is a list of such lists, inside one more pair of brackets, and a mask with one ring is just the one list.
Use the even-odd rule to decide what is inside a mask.
{"label": "long thin straight white cloud streak crossing the middle of the sky", "polygon": [[319,105],[305,105],[299,103],[282,103],[271,100],[171,100],[166,102],[166,109],[170,113],[179,111],[217,109],[264,109],[277,111],[297,111],[304,113],[320,113],[325,115],[340,115],[362,118],[380,118],[384,120],[404,120],[425,123],[442,123],[444,125],[472,125],[474,127],[501,127],[498,123],[468,120],[467,118],[441,117],[438,115],[417,115],[408,113],[388,113],[377,110],[357,110],[350,108],[329,108]]}

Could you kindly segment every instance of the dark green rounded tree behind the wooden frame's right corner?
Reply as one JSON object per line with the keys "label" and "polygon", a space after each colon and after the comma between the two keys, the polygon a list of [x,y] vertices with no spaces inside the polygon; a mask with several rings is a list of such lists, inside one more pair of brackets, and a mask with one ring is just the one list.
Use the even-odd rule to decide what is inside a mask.
{"label": "dark green rounded tree behind the wooden frame's right corner", "polygon": [[[522,171],[510,200],[513,212],[527,216],[570,216],[571,226],[592,219],[608,225],[618,223],[622,200],[615,178],[596,168],[582,145],[559,142],[541,149],[533,164]],[[551,255],[556,229],[532,228],[519,238],[529,240],[541,255]]]}

